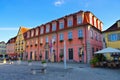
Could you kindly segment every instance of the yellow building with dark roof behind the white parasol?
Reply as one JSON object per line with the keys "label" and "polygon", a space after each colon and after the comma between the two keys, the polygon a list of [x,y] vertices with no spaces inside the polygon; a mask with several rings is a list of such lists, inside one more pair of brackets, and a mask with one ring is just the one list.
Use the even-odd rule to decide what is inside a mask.
{"label": "yellow building with dark roof behind the white parasol", "polygon": [[[120,49],[120,20],[116,21],[111,27],[103,31],[106,47]],[[107,54],[108,59],[112,59],[110,54]]]}

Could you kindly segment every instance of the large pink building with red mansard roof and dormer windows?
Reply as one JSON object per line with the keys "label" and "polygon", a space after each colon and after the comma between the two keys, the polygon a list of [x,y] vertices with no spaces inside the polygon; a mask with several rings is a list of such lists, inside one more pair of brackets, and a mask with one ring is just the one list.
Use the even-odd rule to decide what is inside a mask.
{"label": "large pink building with red mansard roof and dormer windows", "polygon": [[67,61],[89,63],[94,52],[102,49],[101,31],[102,22],[89,11],[53,20],[24,34],[27,58],[59,62],[65,41]]}

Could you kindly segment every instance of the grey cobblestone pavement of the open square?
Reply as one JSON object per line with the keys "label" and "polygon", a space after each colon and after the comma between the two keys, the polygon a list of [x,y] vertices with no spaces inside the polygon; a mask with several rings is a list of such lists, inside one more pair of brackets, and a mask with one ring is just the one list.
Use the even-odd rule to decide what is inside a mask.
{"label": "grey cobblestone pavement of the open square", "polygon": [[46,73],[32,74],[31,69],[40,66],[40,62],[0,63],[0,80],[120,80],[120,69],[90,68],[78,63],[67,63],[67,69],[63,63],[48,63]]}

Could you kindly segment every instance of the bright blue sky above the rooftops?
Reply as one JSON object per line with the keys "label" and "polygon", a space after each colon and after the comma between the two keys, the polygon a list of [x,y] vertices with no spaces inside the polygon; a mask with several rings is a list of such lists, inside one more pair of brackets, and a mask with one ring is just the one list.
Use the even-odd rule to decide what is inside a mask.
{"label": "bright blue sky above the rooftops", "polygon": [[120,0],[0,0],[0,41],[17,35],[20,26],[33,28],[83,10],[103,23],[103,30],[120,19]]}

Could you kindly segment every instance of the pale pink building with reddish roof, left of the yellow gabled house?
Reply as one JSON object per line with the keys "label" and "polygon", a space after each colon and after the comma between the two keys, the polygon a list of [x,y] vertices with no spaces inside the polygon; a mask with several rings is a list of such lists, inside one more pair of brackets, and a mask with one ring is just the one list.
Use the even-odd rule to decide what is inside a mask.
{"label": "pale pink building with reddish roof, left of the yellow gabled house", "polygon": [[16,42],[16,37],[13,37],[10,40],[8,40],[6,45],[6,54],[11,59],[17,59],[17,53],[15,52],[15,42]]}

